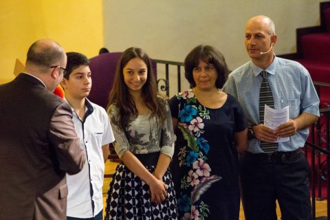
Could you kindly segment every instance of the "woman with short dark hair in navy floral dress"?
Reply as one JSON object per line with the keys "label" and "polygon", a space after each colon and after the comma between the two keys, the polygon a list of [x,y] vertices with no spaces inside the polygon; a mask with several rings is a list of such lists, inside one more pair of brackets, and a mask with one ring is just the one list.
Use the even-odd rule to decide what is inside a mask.
{"label": "woman with short dark hair in navy floral dress", "polygon": [[248,124],[239,102],[221,91],[228,67],[207,45],[195,47],[184,66],[192,89],[170,100],[179,219],[239,219],[237,160],[248,146]]}

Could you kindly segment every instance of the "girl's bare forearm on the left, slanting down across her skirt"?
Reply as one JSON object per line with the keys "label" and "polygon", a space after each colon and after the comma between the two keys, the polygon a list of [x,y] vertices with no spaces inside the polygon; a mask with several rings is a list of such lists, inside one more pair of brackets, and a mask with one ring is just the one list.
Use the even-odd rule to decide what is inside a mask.
{"label": "girl's bare forearm on the left, slanting down across her skirt", "polygon": [[143,166],[131,151],[125,151],[124,155],[120,157],[122,162],[133,172],[137,177],[140,177],[146,184],[150,185],[151,181],[155,179],[155,177]]}

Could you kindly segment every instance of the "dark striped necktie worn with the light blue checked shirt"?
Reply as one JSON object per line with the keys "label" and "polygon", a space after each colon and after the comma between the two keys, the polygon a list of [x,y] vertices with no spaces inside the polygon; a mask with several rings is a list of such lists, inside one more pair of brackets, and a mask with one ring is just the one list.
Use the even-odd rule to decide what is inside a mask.
{"label": "dark striped necktie worn with the light blue checked shirt", "polygon": [[[272,89],[270,89],[270,85],[268,85],[267,81],[267,72],[263,70],[260,73],[263,78],[263,82],[260,87],[260,99],[259,99],[259,115],[260,115],[260,124],[264,123],[264,115],[265,115],[265,104],[274,109],[274,98],[272,94]],[[261,149],[267,153],[272,154],[278,148],[278,143],[267,143],[261,142]]]}

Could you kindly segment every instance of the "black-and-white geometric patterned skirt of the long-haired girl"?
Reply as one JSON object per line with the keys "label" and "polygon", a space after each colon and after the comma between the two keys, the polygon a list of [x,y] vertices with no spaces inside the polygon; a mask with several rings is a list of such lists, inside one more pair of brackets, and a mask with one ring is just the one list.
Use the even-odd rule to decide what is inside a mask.
{"label": "black-and-white geometric patterned skirt of the long-haired girl", "polygon": [[[155,166],[146,168],[151,173],[155,171]],[[150,201],[149,186],[124,164],[118,164],[109,186],[104,219],[177,219],[177,202],[169,170],[166,170],[163,181],[168,185],[167,197],[156,205]]]}

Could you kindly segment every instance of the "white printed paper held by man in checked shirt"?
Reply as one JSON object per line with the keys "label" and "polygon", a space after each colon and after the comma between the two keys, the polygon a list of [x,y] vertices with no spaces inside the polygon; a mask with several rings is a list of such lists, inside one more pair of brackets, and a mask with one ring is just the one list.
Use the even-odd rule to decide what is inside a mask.
{"label": "white printed paper held by man in checked shirt", "polygon": [[[289,120],[289,106],[283,109],[273,109],[265,104],[264,124],[268,128],[275,130],[281,124]],[[277,137],[274,142],[288,142],[289,137]]]}

